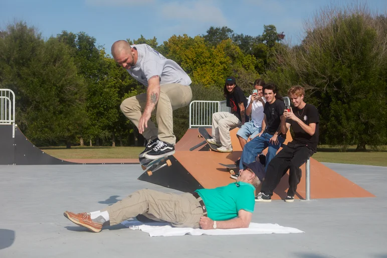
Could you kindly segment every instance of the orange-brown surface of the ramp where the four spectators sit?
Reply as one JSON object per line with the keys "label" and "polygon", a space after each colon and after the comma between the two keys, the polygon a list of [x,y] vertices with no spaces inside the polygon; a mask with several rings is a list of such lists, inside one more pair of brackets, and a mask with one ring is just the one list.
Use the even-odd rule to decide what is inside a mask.
{"label": "orange-brown surface of the ramp where the four spectators sit", "polygon": [[[238,128],[230,131],[234,151],[232,153],[220,153],[215,151],[187,151],[190,147],[200,143],[203,139],[198,138],[198,129],[189,129],[189,133],[187,132],[187,134],[184,135],[184,137],[187,137],[185,139],[184,137],[182,138],[183,142],[179,146],[180,148],[178,148],[176,153],[173,155],[181,164],[181,167],[179,167],[179,170],[183,170],[181,173],[189,173],[197,181],[197,183],[195,182],[195,185],[201,185],[204,188],[214,188],[235,182],[234,179],[230,178],[230,173],[227,169],[219,165],[219,163],[233,164],[234,161],[241,156],[242,149],[236,136],[237,131]],[[290,132],[288,132],[285,144],[291,140],[292,137]],[[200,147],[198,150],[201,148],[204,147]],[[266,154],[267,150],[264,150],[263,153]],[[165,168],[165,170],[172,169],[173,166]],[[302,178],[301,182],[298,184],[295,195],[296,199],[305,199],[305,165],[302,165],[301,169]],[[175,171],[173,171],[173,173],[175,173]],[[274,190],[272,199],[286,198],[289,187],[288,173],[282,177],[281,182]],[[164,176],[168,176],[167,171],[164,172]],[[370,192],[364,190],[360,186],[349,181],[313,158],[310,158],[310,176],[310,196],[312,199],[374,197],[374,195]],[[141,180],[144,180],[144,177]],[[145,181],[148,180],[145,179]],[[151,181],[152,180],[149,182]],[[154,181],[152,181],[152,183],[157,184],[157,182]],[[164,186],[171,187],[171,185],[168,184]],[[192,185],[192,189],[193,187],[194,186]],[[189,190],[192,191],[192,189]]]}

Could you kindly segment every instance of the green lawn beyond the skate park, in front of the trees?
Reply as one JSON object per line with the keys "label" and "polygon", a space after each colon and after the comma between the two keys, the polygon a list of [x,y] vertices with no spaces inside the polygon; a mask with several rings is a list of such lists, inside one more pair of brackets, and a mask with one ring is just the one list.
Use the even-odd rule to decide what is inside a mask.
{"label": "green lawn beyond the skate park, in front of the trees", "polygon": [[[313,158],[320,162],[387,166],[387,151],[365,152],[355,151],[356,146],[350,146],[347,152],[340,152],[339,148],[327,145],[318,146]],[[144,147],[46,147],[44,152],[61,159],[102,159],[102,158],[127,158],[136,159]]]}

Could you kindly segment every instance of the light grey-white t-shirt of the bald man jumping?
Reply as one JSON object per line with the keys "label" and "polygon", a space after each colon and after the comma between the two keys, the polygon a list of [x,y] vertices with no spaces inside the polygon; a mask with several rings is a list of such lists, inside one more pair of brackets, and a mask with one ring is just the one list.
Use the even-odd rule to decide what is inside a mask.
{"label": "light grey-white t-shirt of the bald man jumping", "polygon": [[144,86],[147,87],[148,80],[155,75],[160,77],[160,85],[179,83],[188,86],[192,83],[176,62],[166,59],[150,46],[139,44],[131,47],[137,49],[138,59],[136,65],[126,71]]}

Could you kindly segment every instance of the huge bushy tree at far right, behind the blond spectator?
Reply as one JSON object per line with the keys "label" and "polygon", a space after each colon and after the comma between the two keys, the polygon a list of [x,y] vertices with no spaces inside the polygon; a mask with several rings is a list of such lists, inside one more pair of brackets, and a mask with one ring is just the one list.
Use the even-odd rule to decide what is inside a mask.
{"label": "huge bushy tree at far right, behind the blond spectator", "polygon": [[300,46],[278,51],[268,77],[308,89],[322,143],[359,150],[386,143],[387,30],[366,7],[322,10]]}

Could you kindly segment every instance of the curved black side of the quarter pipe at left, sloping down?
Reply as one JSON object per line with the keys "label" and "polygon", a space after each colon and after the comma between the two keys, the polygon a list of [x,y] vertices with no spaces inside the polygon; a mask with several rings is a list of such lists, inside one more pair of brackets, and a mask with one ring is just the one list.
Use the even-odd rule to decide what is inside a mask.
{"label": "curved black side of the quarter pipe at left, sloping down", "polygon": [[54,158],[40,150],[17,127],[15,130],[15,164],[16,165],[60,165],[75,164]]}

